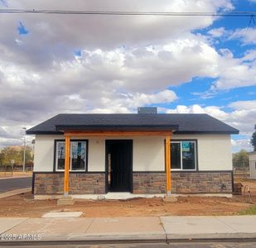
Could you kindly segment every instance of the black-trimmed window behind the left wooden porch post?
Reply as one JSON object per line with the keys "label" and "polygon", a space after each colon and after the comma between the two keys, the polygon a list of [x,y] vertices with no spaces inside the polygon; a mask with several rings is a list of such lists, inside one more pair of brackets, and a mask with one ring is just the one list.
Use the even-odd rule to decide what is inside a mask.
{"label": "black-trimmed window behind the left wooden porch post", "polygon": [[[65,141],[56,141],[56,171],[65,169]],[[70,141],[70,171],[87,170],[87,141]]]}

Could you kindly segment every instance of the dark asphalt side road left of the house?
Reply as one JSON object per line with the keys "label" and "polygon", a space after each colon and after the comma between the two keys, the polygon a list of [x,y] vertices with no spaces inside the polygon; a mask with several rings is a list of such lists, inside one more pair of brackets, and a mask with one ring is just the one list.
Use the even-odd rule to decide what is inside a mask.
{"label": "dark asphalt side road left of the house", "polygon": [[11,191],[18,188],[28,188],[32,185],[32,178],[19,178],[19,179],[1,179],[0,180],[0,193]]}

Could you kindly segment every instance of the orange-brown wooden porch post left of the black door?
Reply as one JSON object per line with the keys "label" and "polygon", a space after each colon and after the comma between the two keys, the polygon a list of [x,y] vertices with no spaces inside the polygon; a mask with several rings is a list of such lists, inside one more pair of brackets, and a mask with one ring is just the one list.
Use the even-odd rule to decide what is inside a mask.
{"label": "orange-brown wooden porch post left of the black door", "polygon": [[64,197],[69,196],[69,188],[70,188],[70,136],[65,136]]}

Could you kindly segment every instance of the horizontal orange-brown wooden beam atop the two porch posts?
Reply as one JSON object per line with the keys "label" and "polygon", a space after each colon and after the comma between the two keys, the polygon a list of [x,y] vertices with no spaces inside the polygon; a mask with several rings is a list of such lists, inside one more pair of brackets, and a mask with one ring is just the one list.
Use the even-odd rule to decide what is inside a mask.
{"label": "horizontal orange-brown wooden beam atop the two porch posts", "polygon": [[170,131],[65,131],[65,136],[167,136]]}

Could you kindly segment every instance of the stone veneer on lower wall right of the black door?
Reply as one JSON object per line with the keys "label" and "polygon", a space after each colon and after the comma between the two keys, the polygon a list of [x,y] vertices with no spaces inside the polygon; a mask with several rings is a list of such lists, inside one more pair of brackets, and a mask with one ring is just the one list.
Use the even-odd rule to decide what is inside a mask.
{"label": "stone veneer on lower wall right of the black door", "polygon": [[[166,193],[166,174],[133,173],[133,193]],[[171,172],[171,193],[232,193],[232,172]]]}

